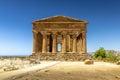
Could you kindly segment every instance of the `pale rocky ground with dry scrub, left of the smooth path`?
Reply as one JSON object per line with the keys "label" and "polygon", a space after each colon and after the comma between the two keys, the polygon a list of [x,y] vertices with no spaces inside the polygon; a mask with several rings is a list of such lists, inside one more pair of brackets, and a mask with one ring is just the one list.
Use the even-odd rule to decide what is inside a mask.
{"label": "pale rocky ground with dry scrub, left of the smooth path", "polygon": [[20,58],[6,58],[6,59],[0,59],[0,73],[3,73],[6,71],[12,71],[12,68],[14,70],[26,68],[35,66],[36,64],[30,63],[30,60],[21,60]]}

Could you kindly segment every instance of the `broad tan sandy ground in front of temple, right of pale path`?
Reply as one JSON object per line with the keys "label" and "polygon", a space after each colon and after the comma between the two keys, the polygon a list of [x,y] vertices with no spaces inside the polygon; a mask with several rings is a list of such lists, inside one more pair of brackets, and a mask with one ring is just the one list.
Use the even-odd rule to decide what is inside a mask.
{"label": "broad tan sandy ground in front of temple, right of pale path", "polygon": [[120,80],[120,66],[105,62],[61,62],[9,80]]}

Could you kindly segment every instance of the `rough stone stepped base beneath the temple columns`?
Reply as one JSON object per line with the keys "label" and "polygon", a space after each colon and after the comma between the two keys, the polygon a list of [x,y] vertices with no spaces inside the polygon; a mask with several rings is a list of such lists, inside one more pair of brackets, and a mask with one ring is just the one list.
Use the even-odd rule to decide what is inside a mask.
{"label": "rough stone stepped base beneath the temple columns", "polygon": [[39,55],[31,55],[31,57],[38,57],[40,60],[60,60],[60,61],[84,61],[89,59],[89,54],[79,53],[39,53]]}

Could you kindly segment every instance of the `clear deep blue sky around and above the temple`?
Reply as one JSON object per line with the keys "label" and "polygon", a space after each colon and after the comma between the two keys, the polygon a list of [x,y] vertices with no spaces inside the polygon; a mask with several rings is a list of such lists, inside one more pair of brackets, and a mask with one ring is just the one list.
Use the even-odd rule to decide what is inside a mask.
{"label": "clear deep blue sky around and above the temple", "polygon": [[0,55],[31,54],[31,22],[55,15],[89,22],[88,52],[120,51],[120,0],[0,0]]}

